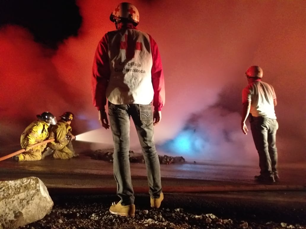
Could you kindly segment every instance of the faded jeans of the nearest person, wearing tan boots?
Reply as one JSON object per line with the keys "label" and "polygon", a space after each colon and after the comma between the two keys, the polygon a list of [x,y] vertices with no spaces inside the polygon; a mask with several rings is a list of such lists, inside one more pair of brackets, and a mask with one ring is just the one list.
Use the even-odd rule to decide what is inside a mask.
{"label": "faded jeans of the nearest person, wearing tan boots", "polygon": [[129,162],[131,116],[144,155],[149,193],[152,198],[159,198],[162,192],[162,184],[159,158],[154,143],[151,104],[115,105],[109,102],[108,114],[114,141],[114,176],[117,182],[117,195],[121,198],[121,205],[134,204],[135,199]]}

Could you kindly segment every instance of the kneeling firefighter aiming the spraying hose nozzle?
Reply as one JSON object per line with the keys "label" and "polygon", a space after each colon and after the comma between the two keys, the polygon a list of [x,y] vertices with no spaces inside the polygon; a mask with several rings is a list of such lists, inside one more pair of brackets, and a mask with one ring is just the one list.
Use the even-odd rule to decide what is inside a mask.
{"label": "kneeling firefighter aiming the spraying hose nozzle", "polygon": [[76,137],[71,133],[71,121],[74,118],[73,113],[65,112],[61,117],[61,120],[54,126],[52,126],[49,138],[54,138],[54,142],[50,142],[47,145],[46,152],[43,153],[43,158],[52,154],[55,159],[69,159],[78,156],[73,146],[72,140]]}

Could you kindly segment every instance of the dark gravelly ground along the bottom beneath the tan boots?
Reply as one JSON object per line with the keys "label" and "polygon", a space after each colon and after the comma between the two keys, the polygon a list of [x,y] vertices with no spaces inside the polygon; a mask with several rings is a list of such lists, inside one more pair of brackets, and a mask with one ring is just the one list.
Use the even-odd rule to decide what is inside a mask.
{"label": "dark gravelly ground along the bottom beneath the tan boots", "polygon": [[52,194],[52,212],[22,228],[306,228],[302,203],[207,198],[201,194],[169,194],[160,209],[151,209],[148,194],[135,198],[135,218],[110,214],[115,195]]}

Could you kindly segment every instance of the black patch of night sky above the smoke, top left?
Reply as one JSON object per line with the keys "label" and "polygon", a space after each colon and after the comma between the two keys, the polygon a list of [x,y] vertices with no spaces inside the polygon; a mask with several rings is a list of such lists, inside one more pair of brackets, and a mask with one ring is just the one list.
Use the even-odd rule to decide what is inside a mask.
{"label": "black patch of night sky above the smoke, top left", "polygon": [[77,36],[81,23],[79,7],[73,0],[0,1],[0,26],[25,27],[36,42],[52,49],[69,36]]}

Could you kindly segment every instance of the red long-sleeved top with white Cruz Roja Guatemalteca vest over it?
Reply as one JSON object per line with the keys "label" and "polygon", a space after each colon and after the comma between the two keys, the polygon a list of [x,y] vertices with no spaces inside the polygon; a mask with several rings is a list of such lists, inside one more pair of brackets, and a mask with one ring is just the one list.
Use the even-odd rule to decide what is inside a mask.
{"label": "red long-sleeved top with white Cruz Roja Guatemalteca vest over it", "polygon": [[93,105],[104,109],[106,97],[113,104],[150,104],[161,111],[165,82],[158,46],[153,38],[132,24],[100,40],[91,78]]}

